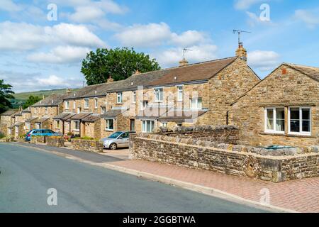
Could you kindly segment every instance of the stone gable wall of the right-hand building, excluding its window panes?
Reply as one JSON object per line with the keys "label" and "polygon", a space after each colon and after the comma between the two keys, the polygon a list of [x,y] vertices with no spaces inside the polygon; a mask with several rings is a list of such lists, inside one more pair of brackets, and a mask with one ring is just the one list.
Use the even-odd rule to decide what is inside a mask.
{"label": "stone gable wall of the right-hand building, excluding its window panes", "polygon": [[[286,74],[283,74],[286,70]],[[250,145],[310,146],[319,144],[319,82],[285,65],[233,104],[230,120],[240,127],[240,140]],[[285,109],[285,131],[265,133],[264,109]],[[289,134],[289,107],[311,108],[311,135]]]}

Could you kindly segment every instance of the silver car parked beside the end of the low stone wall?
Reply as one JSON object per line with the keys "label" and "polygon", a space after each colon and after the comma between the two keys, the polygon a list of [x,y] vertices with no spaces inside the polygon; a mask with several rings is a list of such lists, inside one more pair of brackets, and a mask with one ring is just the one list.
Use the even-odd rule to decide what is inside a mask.
{"label": "silver car parked beside the end of the low stone wall", "polygon": [[133,131],[128,132],[116,132],[107,138],[102,138],[104,148],[116,150],[118,148],[128,148],[130,134],[135,133]]}

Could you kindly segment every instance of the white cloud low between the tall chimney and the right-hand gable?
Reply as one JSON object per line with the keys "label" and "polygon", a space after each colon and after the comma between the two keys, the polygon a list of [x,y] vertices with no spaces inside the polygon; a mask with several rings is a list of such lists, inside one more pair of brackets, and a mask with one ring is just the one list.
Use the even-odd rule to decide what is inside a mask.
{"label": "white cloud low between the tall chimney and the right-hand gable", "polygon": [[251,67],[264,72],[279,65],[279,57],[274,51],[255,50],[247,53],[247,62]]}

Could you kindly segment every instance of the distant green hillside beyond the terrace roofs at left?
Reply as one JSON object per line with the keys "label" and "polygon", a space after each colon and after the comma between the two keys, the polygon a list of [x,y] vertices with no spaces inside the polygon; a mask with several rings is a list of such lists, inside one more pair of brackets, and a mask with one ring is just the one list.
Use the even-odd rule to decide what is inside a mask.
{"label": "distant green hillside beyond the terrace roofs at left", "polygon": [[[72,89],[77,90],[77,89]],[[13,108],[18,108],[18,106],[22,106],[24,103],[26,103],[26,100],[30,95],[33,96],[39,96],[39,97],[47,97],[51,94],[64,94],[67,92],[67,89],[55,89],[55,90],[45,90],[45,91],[38,91],[38,92],[21,92],[14,94],[15,99],[11,99],[11,104],[13,105]]]}

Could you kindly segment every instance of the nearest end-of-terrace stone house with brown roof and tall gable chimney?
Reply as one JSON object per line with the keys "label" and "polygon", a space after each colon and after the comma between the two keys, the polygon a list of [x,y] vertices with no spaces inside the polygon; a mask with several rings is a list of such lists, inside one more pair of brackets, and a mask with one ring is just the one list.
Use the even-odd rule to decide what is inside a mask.
{"label": "nearest end-of-terrace stone house with brown roof and tall gable chimney", "polygon": [[228,124],[230,104],[260,81],[242,55],[246,51],[240,44],[237,57],[192,65],[183,60],[179,67],[161,70],[162,77],[138,95],[136,131]]}

